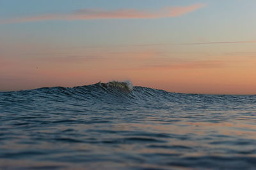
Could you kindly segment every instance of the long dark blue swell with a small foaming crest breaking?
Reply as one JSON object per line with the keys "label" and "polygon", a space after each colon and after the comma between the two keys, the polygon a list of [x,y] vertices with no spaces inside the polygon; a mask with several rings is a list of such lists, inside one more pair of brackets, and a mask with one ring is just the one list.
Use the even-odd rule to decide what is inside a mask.
{"label": "long dark blue swell with a small foaming crest breaking", "polygon": [[[143,104],[145,102],[167,103],[218,103],[230,101],[239,103],[241,98],[250,99],[253,96],[232,95],[204,95],[204,94],[181,94],[166,92],[148,87],[132,86],[131,81],[109,81],[108,83],[95,83],[93,85],[69,87],[43,87],[33,90],[20,90],[16,92],[0,92],[0,97],[6,97],[0,104],[10,101],[37,101],[50,99],[51,101],[120,101]],[[243,100],[242,100],[243,102]],[[253,102],[253,101],[251,101]]]}

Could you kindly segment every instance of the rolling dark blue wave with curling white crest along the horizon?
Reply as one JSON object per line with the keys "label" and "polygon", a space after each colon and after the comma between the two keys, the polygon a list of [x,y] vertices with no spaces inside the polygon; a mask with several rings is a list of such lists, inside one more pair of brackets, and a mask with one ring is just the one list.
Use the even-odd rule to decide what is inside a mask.
{"label": "rolling dark blue wave with curling white crest along the horizon", "polygon": [[[34,90],[21,90],[17,92],[0,92],[0,106],[27,107],[33,104],[46,103],[72,103],[72,106],[81,104],[138,104],[145,107],[170,106],[170,104],[195,104],[207,107],[208,104],[241,104],[256,103],[256,96],[230,96],[230,95],[203,95],[180,94],[148,87],[132,86],[131,81],[108,83],[95,83],[78,87],[44,87]],[[180,105],[182,106],[182,105]],[[192,108],[190,108],[192,109]]]}

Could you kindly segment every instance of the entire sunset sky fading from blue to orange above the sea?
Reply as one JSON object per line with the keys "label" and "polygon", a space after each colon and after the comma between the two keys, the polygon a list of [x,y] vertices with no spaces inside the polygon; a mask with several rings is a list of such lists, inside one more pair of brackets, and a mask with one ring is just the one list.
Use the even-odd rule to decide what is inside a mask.
{"label": "entire sunset sky fading from blue to orange above the sea", "polygon": [[0,0],[0,91],[99,81],[256,94],[255,0]]}

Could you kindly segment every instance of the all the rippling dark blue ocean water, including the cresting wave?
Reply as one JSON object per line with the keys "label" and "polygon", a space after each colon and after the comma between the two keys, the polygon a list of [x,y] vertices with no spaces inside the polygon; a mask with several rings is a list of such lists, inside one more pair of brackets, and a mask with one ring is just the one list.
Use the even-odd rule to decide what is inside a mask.
{"label": "all the rippling dark blue ocean water, including the cresting wave", "polygon": [[0,92],[0,169],[256,169],[256,96],[124,83]]}

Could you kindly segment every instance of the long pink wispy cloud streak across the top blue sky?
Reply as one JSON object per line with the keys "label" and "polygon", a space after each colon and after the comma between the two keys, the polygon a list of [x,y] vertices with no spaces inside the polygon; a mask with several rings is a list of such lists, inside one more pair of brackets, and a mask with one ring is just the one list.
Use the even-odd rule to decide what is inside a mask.
{"label": "long pink wispy cloud streak across the top blue sky", "polygon": [[179,17],[186,13],[205,7],[205,4],[193,4],[190,6],[171,6],[158,11],[149,10],[102,10],[102,9],[82,9],[71,13],[53,13],[47,15],[36,15],[30,17],[17,17],[0,20],[0,24],[12,24],[18,22],[36,22],[44,20],[100,20],[100,19],[133,19],[133,18],[169,18]]}

